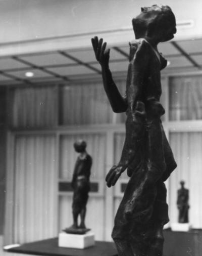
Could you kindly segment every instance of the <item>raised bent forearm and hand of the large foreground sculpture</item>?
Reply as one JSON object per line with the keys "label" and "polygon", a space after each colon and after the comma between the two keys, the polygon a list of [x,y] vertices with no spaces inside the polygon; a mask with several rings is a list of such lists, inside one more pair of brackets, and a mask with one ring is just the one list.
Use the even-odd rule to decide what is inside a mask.
{"label": "raised bent forearm and hand of the large foreground sculpture", "polygon": [[107,43],[104,42],[103,44],[103,38],[98,40],[97,36],[95,36],[91,39],[91,42],[96,60],[102,67],[104,89],[110,101],[110,105],[115,113],[125,112],[128,107],[127,101],[119,93],[109,68],[110,49],[106,50]]}

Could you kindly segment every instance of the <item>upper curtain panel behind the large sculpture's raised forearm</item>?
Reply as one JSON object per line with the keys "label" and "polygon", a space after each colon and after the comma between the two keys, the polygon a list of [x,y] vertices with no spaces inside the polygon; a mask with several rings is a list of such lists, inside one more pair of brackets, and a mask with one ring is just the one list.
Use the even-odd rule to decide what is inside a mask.
{"label": "upper curtain panel behind the large sculpture's raised forearm", "polygon": [[[124,94],[125,86],[118,81],[117,86]],[[103,82],[65,86],[61,89],[60,124],[97,124],[124,122],[125,114],[112,111]]]}

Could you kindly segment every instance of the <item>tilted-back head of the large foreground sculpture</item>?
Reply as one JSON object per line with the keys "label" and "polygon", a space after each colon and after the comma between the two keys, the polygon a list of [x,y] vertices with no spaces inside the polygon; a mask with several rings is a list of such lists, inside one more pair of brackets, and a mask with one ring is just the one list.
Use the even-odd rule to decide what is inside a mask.
{"label": "tilted-back head of the large foreground sculpture", "polygon": [[175,16],[169,6],[142,7],[141,13],[132,20],[135,38],[150,37],[158,42],[172,39],[176,33]]}

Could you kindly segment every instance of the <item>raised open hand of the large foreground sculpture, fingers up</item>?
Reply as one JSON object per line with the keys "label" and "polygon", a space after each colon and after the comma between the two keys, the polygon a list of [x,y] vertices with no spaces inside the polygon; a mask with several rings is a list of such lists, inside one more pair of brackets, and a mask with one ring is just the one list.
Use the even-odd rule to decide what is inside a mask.
{"label": "raised open hand of the large foreground sculpture, fingers up", "polygon": [[110,49],[106,50],[107,42],[103,44],[103,38],[98,40],[98,37],[95,36],[91,38],[92,47],[95,53],[95,58],[101,66],[109,65],[110,60]]}

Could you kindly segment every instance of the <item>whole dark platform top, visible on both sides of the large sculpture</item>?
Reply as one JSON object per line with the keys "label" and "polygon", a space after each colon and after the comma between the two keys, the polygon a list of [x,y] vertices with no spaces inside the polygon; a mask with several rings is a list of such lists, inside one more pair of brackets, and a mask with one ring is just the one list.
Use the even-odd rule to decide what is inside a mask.
{"label": "whole dark platform top, visible on both sides of the large sculpture", "polygon": [[[165,230],[164,237],[164,256],[202,256],[202,230]],[[58,238],[26,243],[8,251],[41,256],[117,256],[117,250],[112,242],[96,241],[93,247],[72,249],[59,247]]]}

